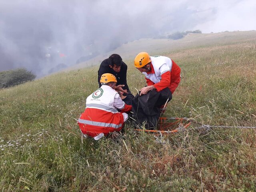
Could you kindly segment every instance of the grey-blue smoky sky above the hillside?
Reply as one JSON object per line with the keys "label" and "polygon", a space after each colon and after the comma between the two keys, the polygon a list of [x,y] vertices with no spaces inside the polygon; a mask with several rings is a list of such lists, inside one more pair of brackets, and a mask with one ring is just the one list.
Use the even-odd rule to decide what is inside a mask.
{"label": "grey-blue smoky sky above the hillside", "polygon": [[140,38],[256,30],[255,0],[0,0],[0,71],[38,77]]}

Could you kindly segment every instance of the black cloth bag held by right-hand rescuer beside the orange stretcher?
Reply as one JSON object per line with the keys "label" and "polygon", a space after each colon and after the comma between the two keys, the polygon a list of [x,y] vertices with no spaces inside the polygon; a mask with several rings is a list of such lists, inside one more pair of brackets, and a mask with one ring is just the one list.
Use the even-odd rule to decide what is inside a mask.
{"label": "black cloth bag held by right-hand rescuer beside the orange stretcher", "polygon": [[169,88],[160,92],[155,89],[147,94],[140,96],[137,94],[132,99],[132,118],[134,124],[145,125],[146,129],[155,128],[160,117],[160,106],[172,99],[172,93]]}

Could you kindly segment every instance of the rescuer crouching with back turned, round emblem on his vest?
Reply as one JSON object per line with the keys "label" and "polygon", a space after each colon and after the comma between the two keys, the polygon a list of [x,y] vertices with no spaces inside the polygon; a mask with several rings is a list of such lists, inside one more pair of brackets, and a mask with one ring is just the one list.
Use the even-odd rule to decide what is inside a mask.
{"label": "rescuer crouching with back turned, round emblem on his vest", "polygon": [[113,74],[102,74],[102,86],[87,97],[86,109],[78,119],[78,125],[84,135],[97,140],[123,128],[124,122],[128,119],[126,112],[130,112],[132,106],[122,101],[115,90],[118,89],[116,82]]}

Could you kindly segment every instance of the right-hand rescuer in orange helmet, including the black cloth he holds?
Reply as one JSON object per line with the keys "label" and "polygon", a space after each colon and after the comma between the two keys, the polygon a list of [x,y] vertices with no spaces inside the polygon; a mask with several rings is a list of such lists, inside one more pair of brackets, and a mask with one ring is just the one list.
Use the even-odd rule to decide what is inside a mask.
{"label": "right-hand rescuer in orange helmet, including the black cloth he holds", "polygon": [[135,57],[134,66],[145,75],[147,86],[132,99],[133,119],[136,124],[146,122],[146,128],[154,128],[180,83],[180,67],[168,57],[149,56],[147,52]]}

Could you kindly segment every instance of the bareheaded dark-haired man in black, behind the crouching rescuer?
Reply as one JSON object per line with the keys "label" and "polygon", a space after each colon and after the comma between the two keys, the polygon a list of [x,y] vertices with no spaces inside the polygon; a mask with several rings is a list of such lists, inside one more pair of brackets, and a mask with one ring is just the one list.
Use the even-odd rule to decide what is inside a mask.
{"label": "bareheaded dark-haired man in black, behind the crouching rescuer", "polygon": [[128,92],[128,94],[122,94],[122,92],[120,92],[120,96],[126,104],[131,105],[131,100],[134,96],[131,94],[126,81],[127,65],[122,61],[120,55],[112,54],[109,56],[109,58],[101,62],[100,68],[98,70],[99,87],[101,86],[100,77],[105,73],[111,73],[116,76],[116,86],[124,85],[122,89],[124,92]]}

